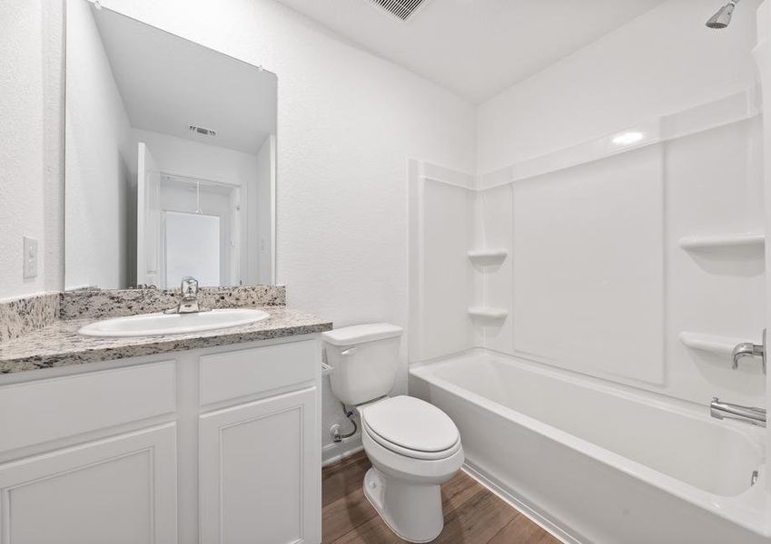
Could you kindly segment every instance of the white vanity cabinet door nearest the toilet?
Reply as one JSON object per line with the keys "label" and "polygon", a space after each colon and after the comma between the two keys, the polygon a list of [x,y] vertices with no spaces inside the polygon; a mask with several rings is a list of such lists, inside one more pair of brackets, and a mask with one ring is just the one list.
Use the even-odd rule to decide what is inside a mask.
{"label": "white vanity cabinet door nearest the toilet", "polygon": [[203,544],[321,542],[316,388],[201,416]]}

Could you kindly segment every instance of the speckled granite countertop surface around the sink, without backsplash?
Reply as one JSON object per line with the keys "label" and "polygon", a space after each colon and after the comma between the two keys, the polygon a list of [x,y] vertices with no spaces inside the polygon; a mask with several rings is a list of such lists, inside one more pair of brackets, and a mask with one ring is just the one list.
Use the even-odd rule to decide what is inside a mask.
{"label": "speckled granite countertop surface around the sink, without backsplash", "polygon": [[0,374],[308,335],[332,328],[330,321],[286,306],[258,307],[270,317],[252,325],[183,335],[130,338],[82,336],[77,334],[77,330],[96,321],[94,317],[55,321],[51,325],[0,343]]}

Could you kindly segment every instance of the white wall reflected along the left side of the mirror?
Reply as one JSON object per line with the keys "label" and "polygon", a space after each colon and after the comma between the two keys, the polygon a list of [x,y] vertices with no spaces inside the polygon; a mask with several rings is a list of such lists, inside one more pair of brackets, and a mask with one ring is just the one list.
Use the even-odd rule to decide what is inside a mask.
{"label": "white wall reflected along the left side of the mirror", "polygon": [[67,25],[65,287],[124,287],[131,124],[88,5],[70,2]]}

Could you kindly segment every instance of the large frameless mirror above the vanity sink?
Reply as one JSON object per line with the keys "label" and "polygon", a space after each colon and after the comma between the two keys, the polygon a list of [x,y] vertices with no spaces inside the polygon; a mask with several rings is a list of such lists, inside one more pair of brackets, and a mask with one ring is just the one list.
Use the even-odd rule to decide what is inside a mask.
{"label": "large frameless mirror above the vanity sink", "polygon": [[273,73],[67,3],[64,284],[275,282]]}

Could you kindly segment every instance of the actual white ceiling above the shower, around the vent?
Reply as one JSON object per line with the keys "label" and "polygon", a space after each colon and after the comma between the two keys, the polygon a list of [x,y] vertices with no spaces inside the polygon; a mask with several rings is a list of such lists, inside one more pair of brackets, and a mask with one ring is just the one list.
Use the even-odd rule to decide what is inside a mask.
{"label": "actual white ceiling above the shower, around the vent", "polygon": [[426,0],[407,22],[371,0],[278,1],[483,102],[664,0]]}

